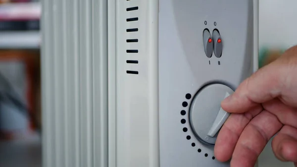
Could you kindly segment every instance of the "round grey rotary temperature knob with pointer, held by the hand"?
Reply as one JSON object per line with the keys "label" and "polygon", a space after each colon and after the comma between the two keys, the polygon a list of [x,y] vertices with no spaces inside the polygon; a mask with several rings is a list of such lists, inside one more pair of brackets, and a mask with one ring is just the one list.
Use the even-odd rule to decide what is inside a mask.
{"label": "round grey rotary temperature knob with pointer, held by the hand", "polygon": [[221,108],[221,102],[234,91],[223,84],[211,84],[201,88],[190,106],[190,125],[199,141],[214,145],[217,134],[229,113]]}

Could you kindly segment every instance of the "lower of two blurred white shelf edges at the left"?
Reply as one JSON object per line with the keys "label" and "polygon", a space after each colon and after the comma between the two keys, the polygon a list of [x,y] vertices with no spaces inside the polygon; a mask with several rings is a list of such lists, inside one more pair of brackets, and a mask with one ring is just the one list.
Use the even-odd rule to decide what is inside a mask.
{"label": "lower of two blurred white shelf edges at the left", "polygon": [[40,31],[0,32],[0,49],[39,49]]}

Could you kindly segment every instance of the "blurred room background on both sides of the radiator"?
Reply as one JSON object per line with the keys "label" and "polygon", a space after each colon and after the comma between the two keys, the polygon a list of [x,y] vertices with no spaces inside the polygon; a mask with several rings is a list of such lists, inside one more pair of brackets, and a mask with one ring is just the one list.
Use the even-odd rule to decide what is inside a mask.
{"label": "blurred room background on both sides of the radiator", "polygon": [[[297,44],[297,0],[259,0],[259,65]],[[39,0],[0,0],[0,167],[41,167]],[[293,167],[273,156],[259,167]]]}

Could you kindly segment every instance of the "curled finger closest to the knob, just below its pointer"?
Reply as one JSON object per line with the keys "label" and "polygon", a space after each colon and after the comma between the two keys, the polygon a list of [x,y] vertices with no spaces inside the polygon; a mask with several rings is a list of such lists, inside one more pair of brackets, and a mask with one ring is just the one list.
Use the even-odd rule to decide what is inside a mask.
{"label": "curled finger closest to the knob, just below its pointer", "polygon": [[226,162],[231,159],[239,136],[248,122],[261,111],[262,106],[258,105],[249,112],[235,113],[229,116],[221,128],[214,146],[214,155],[218,161]]}

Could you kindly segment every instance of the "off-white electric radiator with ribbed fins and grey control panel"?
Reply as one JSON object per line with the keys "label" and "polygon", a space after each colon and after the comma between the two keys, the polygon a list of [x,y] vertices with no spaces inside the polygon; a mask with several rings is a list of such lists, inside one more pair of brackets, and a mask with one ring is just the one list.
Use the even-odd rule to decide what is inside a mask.
{"label": "off-white electric radiator with ribbed fins and grey control panel", "polygon": [[[229,7],[223,13],[233,19],[228,23],[213,13],[203,14],[200,6],[203,17],[197,16],[195,24],[190,12],[196,12],[197,3],[212,2],[188,2],[43,0],[43,167],[228,166],[216,161],[212,145],[198,141],[191,132],[194,126],[186,119],[191,100],[207,79],[221,81],[225,79],[222,74],[228,73],[226,82],[236,88],[257,69],[258,0],[234,0],[231,7],[216,0],[219,11]],[[236,12],[241,14],[234,15]],[[240,16],[246,20],[239,20]],[[185,19],[191,20],[191,26],[186,26]],[[233,31],[237,20],[242,29]],[[176,26],[176,22],[181,24]],[[190,33],[195,27],[200,34]],[[193,34],[201,38],[194,39]],[[216,55],[208,50],[213,41],[207,43],[205,34],[216,37]],[[225,48],[227,58],[219,50],[221,42],[237,45],[238,39],[232,40],[230,34],[246,41],[234,50]],[[196,62],[203,70],[216,73],[202,75]],[[239,70],[232,70],[232,63]],[[229,73],[241,70],[242,76]],[[215,137],[204,139],[210,144],[215,141]]]}

